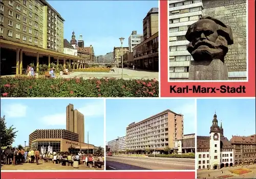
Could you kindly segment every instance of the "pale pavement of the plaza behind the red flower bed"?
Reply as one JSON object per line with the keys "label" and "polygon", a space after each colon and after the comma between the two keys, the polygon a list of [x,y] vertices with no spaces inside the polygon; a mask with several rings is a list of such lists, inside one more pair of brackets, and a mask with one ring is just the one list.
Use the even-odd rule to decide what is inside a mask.
{"label": "pale pavement of the plaza behind the red flower bed", "polygon": [[[82,77],[84,79],[90,78],[122,78],[122,68],[116,69],[115,72],[72,72],[70,75],[62,75],[62,78]],[[133,69],[123,69],[123,79],[156,79],[158,80],[158,72],[142,71]]]}

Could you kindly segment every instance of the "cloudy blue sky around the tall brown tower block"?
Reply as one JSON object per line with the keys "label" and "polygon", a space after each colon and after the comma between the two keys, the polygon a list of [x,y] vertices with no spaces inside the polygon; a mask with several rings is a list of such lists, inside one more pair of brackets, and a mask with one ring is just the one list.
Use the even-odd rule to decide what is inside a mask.
{"label": "cloudy blue sky around the tall brown tower block", "polygon": [[29,135],[36,129],[66,129],[70,103],[84,115],[84,139],[89,131],[89,143],[103,147],[103,99],[1,99],[1,117],[5,115],[7,126],[13,125],[18,131],[13,146],[24,146],[24,141],[28,145]]}

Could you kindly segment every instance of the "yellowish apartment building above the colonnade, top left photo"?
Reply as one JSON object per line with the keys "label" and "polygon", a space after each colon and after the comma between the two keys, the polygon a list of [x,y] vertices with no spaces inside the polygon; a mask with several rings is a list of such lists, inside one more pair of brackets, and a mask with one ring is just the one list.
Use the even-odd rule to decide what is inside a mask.
{"label": "yellowish apartment building above the colonnade, top left photo", "polygon": [[64,19],[46,1],[1,0],[0,4],[1,38],[63,53]]}

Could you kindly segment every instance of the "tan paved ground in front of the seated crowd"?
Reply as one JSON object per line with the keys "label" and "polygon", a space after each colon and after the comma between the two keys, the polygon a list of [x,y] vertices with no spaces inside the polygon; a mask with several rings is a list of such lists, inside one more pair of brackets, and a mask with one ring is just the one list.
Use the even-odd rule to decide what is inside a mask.
{"label": "tan paved ground in front of the seated crowd", "polygon": [[73,168],[71,166],[61,166],[61,164],[53,164],[48,162],[39,162],[39,165],[35,163],[23,163],[20,165],[3,165],[1,170],[102,170],[100,168],[90,168],[85,165],[79,165],[79,168]]}

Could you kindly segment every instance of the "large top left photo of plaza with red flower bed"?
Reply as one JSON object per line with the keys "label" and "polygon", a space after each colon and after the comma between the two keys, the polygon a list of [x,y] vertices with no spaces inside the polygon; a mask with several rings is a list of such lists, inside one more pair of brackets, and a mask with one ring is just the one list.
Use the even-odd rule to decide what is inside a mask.
{"label": "large top left photo of plaza with red flower bed", "polygon": [[0,0],[1,97],[159,97],[158,3]]}

